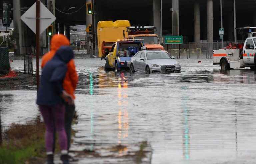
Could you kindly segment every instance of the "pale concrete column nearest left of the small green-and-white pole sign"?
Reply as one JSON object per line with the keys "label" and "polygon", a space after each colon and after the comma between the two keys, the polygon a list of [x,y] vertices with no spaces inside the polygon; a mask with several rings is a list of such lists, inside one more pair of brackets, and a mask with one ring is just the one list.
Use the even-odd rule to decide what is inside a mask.
{"label": "pale concrete column nearest left of the small green-and-white pole sign", "polygon": [[[213,42],[213,2],[207,0],[207,41]],[[209,55],[213,54],[213,44],[209,43]]]}

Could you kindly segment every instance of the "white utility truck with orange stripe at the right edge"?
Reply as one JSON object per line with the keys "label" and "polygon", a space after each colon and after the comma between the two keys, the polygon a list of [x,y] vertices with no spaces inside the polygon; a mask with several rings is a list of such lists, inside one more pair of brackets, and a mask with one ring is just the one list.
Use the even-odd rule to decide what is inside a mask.
{"label": "white utility truck with orange stripe at the right edge", "polygon": [[218,49],[213,50],[213,64],[219,64],[221,70],[233,68],[256,67],[256,37],[249,37],[245,40],[242,52],[239,49]]}

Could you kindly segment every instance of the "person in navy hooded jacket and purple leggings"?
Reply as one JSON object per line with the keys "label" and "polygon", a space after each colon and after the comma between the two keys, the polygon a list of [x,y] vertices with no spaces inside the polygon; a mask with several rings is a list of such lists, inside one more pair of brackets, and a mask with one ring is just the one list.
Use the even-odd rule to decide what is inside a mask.
{"label": "person in navy hooded jacket and purple leggings", "polygon": [[61,160],[64,164],[69,163],[63,100],[68,101],[69,104],[73,104],[74,101],[72,96],[63,89],[63,80],[67,72],[67,63],[73,58],[73,50],[68,46],[62,46],[42,70],[36,103],[39,105],[46,125],[45,146],[48,164],[53,164],[54,161],[52,152],[54,125],[58,132]]}

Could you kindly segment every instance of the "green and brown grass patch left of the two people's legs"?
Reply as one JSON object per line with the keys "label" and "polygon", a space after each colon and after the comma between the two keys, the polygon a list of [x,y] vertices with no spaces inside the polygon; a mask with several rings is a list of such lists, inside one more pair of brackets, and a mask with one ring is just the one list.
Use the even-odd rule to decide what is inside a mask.
{"label": "green and brown grass patch left of the two people's legs", "polygon": [[30,158],[45,156],[44,131],[44,123],[38,120],[24,125],[12,124],[4,132],[0,164],[21,164]]}

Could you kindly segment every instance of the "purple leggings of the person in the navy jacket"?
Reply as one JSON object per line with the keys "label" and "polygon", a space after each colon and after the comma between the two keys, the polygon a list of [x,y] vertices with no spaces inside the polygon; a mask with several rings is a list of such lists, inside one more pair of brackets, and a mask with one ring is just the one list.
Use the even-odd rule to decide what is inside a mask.
{"label": "purple leggings of the person in the navy jacket", "polygon": [[67,135],[65,132],[65,106],[58,104],[55,106],[39,105],[39,109],[44,118],[44,123],[46,126],[45,133],[45,147],[47,152],[52,152],[53,148],[53,133],[54,124],[56,131],[59,136],[59,145],[61,150],[67,150]]}

